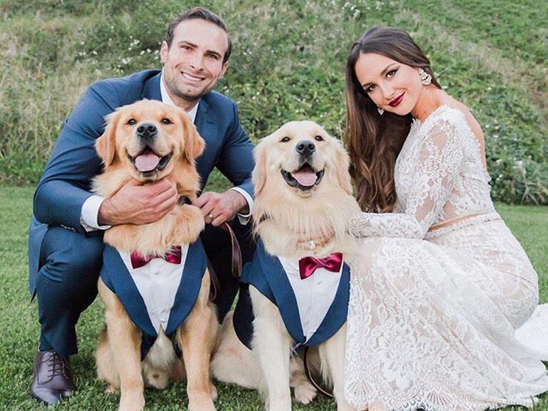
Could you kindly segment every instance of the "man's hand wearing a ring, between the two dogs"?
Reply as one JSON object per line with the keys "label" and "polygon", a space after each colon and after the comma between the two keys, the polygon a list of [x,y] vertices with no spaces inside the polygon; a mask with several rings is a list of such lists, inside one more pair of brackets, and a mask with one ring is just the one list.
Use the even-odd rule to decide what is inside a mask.
{"label": "man's hand wearing a ring, between the two dogs", "polygon": [[236,213],[248,208],[248,202],[238,191],[228,190],[222,194],[207,191],[202,193],[194,203],[200,208],[205,223],[218,227],[225,221],[232,220]]}

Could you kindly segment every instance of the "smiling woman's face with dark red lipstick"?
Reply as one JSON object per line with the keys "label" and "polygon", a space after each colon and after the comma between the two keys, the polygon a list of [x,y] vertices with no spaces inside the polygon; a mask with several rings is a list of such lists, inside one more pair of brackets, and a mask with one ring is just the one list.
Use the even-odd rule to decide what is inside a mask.
{"label": "smiling woman's face with dark red lipstick", "polygon": [[375,53],[362,53],[356,77],[373,103],[399,116],[409,114],[422,92],[417,68]]}

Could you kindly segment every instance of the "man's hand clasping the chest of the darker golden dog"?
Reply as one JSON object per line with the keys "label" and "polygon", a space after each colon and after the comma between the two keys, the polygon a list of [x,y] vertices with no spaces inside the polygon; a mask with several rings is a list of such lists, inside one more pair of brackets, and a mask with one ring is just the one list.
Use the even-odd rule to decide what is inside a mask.
{"label": "man's hand clasping the chest of the darker golden dog", "polygon": [[165,178],[144,186],[132,179],[101,203],[97,220],[99,225],[153,223],[173,210],[178,198]]}

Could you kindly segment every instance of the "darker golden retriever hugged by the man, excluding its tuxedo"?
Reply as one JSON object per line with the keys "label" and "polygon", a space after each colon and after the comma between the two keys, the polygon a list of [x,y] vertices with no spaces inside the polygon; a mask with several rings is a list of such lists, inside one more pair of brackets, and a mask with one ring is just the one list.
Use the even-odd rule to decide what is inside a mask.
{"label": "darker golden retriever hugged by the man, excluding its tuxedo", "polygon": [[[116,248],[120,255],[138,252],[145,258],[156,258],[174,246],[192,244],[198,239],[204,220],[201,210],[191,203],[200,188],[194,161],[204,145],[181,108],[159,101],[138,101],[118,108],[107,117],[105,131],[96,141],[104,172],[93,181],[95,193],[109,198],[131,179],[146,184],[168,178],[181,198],[188,199],[186,203],[180,201],[155,223],[114,225],[104,234],[107,245]],[[141,330],[118,295],[101,278],[98,280],[98,292],[106,306],[106,329],[96,352],[97,374],[108,382],[108,391],[121,391],[120,410],[143,409],[144,385],[161,389],[171,378],[183,377],[185,373],[188,409],[215,410],[216,392],[210,383],[209,362],[218,323],[209,301],[207,268],[201,283],[198,278],[196,285],[199,288],[196,303],[174,336],[184,362],[176,356],[174,345],[162,327],[141,361]],[[146,287],[150,289],[153,284],[146,283]]]}

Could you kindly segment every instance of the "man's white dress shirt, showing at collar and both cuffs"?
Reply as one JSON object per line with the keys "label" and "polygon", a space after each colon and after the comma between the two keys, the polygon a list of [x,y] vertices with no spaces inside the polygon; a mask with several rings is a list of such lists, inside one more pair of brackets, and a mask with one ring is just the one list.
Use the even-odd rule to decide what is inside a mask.
{"label": "man's white dress shirt, showing at collar and both cuffs", "polygon": [[[175,106],[176,104],[173,102],[171,97],[169,96],[168,91],[166,90],[166,86],[164,84],[163,80],[163,71],[160,78],[160,93],[162,96],[162,103],[169,104],[170,106]],[[200,101],[196,103],[196,106],[191,108],[190,111],[187,111],[188,117],[191,119],[191,121],[194,123],[196,121],[196,113],[198,113],[198,106],[200,105]],[[249,195],[249,193],[243,188],[240,187],[233,187],[230,188],[230,190],[235,190],[240,193],[243,198],[245,198],[245,201],[248,202],[248,213],[238,213],[238,220],[240,221],[240,224],[245,225],[248,223],[249,218],[251,216],[251,210],[253,207],[253,198]],[[107,228],[111,228],[111,225],[99,225],[98,224],[98,215],[99,215],[99,208],[101,207],[101,204],[103,203],[104,198],[101,196],[93,195],[89,197],[82,205],[82,209],[80,211],[80,223],[82,227],[86,231],[93,231],[93,230],[106,230]]]}

